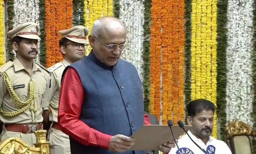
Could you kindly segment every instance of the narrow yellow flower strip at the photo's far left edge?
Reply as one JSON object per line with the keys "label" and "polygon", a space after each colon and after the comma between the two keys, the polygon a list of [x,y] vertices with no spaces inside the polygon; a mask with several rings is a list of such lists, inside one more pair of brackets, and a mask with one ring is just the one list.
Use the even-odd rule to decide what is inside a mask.
{"label": "narrow yellow flower strip at the photo's far left edge", "polygon": [[4,50],[4,7],[2,5],[4,1],[0,3],[0,66],[5,63],[5,50]]}

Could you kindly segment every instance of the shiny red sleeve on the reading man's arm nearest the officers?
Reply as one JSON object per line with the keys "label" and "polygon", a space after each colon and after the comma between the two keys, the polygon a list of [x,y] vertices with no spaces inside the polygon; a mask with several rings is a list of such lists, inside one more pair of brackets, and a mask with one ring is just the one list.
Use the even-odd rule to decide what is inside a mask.
{"label": "shiny red sleeve on the reading man's arm nearest the officers", "polygon": [[58,125],[65,134],[84,145],[107,149],[111,135],[99,132],[79,120],[84,91],[80,77],[72,67],[66,71],[60,89]]}

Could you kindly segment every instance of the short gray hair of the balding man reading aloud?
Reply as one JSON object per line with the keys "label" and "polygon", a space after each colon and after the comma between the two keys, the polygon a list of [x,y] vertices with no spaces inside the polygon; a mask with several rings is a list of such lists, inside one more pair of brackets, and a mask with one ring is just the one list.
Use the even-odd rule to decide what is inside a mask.
{"label": "short gray hair of the balding man reading aloud", "polygon": [[99,30],[100,30],[101,27],[102,27],[102,23],[103,23],[106,19],[110,19],[110,18],[118,20],[118,21],[122,24],[122,26],[125,28],[125,26],[124,26],[124,24],[123,24],[123,22],[122,22],[121,20],[119,20],[119,19],[117,19],[117,18],[115,18],[115,17],[105,16],[105,17],[101,17],[101,18],[97,19],[97,20],[94,22],[93,27],[92,27],[92,30],[91,30],[91,35],[93,35],[93,36],[99,38]]}

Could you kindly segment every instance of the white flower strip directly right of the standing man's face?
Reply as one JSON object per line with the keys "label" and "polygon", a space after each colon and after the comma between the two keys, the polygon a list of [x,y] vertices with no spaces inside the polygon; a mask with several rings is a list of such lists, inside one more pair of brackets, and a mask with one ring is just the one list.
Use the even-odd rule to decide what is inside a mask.
{"label": "white flower strip directly right of the standing man's face", "polygon": [[128,46],[122,51],[121,58],[132,63],[143,79],[143,24],[144,0],[120,0],[120,20],[124,23],[127,32]]}

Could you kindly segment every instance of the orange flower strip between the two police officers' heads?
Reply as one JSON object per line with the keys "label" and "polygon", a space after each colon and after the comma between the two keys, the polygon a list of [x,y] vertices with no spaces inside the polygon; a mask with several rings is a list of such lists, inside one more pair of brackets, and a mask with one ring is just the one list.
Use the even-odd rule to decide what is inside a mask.
{"label": "orange flower strip between the two police officers' heads", "polygon": [[61,35],[58,31],[72,27],[72,2],[72,0],[45,0],[46,67],[62,60],[58,44]]}

